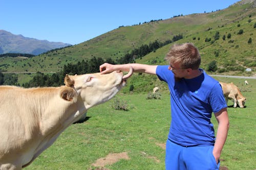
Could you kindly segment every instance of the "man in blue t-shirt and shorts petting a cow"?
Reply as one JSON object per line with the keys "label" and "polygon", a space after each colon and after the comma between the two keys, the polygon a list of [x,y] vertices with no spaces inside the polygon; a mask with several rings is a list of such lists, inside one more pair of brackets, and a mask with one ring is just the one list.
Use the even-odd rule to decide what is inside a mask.
{"label": "man in blue t-shirt and shorts petting a cow", "polygon": [[[172,122],[166,141],[166,170],[219,169],[229,128],[222,88],[199,68],[201,56],[194,44],[172,46],[165,59],[169,65],[104,63],[100,72],[129,71],[132,66],[134,72],[157,75],[168,84]],[[212,112],[219,125],[216,137]]]}

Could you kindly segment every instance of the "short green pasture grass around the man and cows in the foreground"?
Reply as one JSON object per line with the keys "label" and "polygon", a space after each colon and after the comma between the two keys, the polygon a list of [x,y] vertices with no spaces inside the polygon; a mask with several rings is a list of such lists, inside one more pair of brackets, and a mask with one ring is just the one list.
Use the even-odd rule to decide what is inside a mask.
{"label": "short green pasture grass around the man and cows in the foreground", "polygon": [[[230,129],[221,156],[221,166],[228,169],[255,169],[256,80],[219,78],[233,82],[246,96],[246,108],[228,107]],[[161,89],[160,89],[161,90]],[[57,141],[25,169],[97,169],[92,163],[110,153],[127,152],[130,159],[121,159],[105,168],[164,169],[165,143],[170,125],[170,106],[167,91],[161,100],[146,100],[146,93],[123,94],[129,111],[113,110],[113,100],[91,108],[88,120],[71,125]],[[228,103],[232,105],[231,102]],[[212,118],[217,129],[217,122]]]}

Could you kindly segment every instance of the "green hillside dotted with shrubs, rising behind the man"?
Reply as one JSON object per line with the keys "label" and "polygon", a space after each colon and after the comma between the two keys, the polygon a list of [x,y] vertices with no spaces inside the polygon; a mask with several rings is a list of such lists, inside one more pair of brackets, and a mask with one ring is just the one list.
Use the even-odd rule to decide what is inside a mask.
{"label": "green hillside dotted with shrubs, rising behind the man", "polygon": [[[116,60],[142,44],[155,40],[164,42],[182,34],[184,38],[175,43],[193,42],[201,53],[202,68],[205,69],[211,61],[216,61],[218,70],[214,74],[253,76],[256,70],[255,7],[255,0],[243,0],[211,13],[120,27],[83,43],[32,58],[2,57],[0,69],[2,72],[58,72],[68,63],[76,64],[92,57]],[[250,38],[251,42],[248,43]],[[170,45],[172,44],[163,46],[136,62],[166,64],[163,58]],[[246,68],[252,68],[252,71],[245,71]]]}

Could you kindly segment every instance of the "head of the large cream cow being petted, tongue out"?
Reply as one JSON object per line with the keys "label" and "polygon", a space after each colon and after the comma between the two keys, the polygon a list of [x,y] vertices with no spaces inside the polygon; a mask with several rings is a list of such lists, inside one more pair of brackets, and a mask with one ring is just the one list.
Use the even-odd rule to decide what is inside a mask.
{"label": "head of the large cream cow being petted, tongue out", "polygon": [[[126,79],[133,74],[133,68],[127,75],[122,71],[113,71],[109,74],[85,74],[65,77],[65,85],[70,87],[62,92],[61,97],[66,100],[82,101],[87,109],[104,103],[111,98],[126,84]],[[72,90],[73,89],[73,90]]]}

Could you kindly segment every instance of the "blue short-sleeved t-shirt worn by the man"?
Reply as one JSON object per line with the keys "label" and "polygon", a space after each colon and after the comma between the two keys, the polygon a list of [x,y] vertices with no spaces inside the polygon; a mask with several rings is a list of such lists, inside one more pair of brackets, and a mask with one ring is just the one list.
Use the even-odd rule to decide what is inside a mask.
{"label": "blue short-sleeved t-shirt worn by the man", "polygon": [[168,84],[172,122],[168,139],[183,146],[214,145],[214,126],[211,113],[227,104],[218,81],[203,73],[193,79],[175,81],[168,65],[159,65],[156,74]]}

